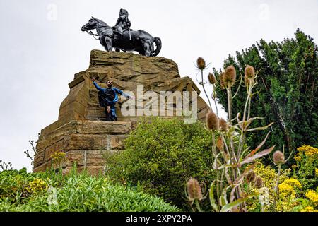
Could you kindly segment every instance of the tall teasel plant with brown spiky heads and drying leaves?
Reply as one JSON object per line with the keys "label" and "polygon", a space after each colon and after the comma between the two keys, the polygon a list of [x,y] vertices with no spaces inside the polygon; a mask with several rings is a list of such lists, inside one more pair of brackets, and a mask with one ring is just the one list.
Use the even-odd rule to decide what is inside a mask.
{"label": "tall teasel plant with brown spiky heads and drying leaves", "polygon": [[[271,148],[261,150],[269,137],[269,133],[267,133],[264,141],[253,150],[249,147],[247,148],[245,144],[246,135],[249,131],[264,130],[273,124],[249,128],[254,120],[263,119],[261,117],[251,117],[250,115],[251,100],[256,94],[252,92],[255,85],[257,85],[258,73],[255,72],[254,67],[247,65],[245,76],[244,78],[241,76],[240,84],[234,95],[232,95],[232,86],[238,82],[234,66],[228,66],[224,71],[221,71],[218,79],[214,76],[212,77],[211,74],[208,76],[210,83],[220,85],[222,89],[226,90],[228,96],[228,121],[219,118],[212,111],[206,114],[206,126],[212,133],[212,153],[214,156],[212,167],[216,170],[216,179],[211,183],[209,198],[212,209],[217,212],[246,211],[245,201],[252,198],[252,196],[244,192],[245,177],[254,169],[255,160],[269,155],[275,148],[274,145]],[[242,114],[238,113],[236,117],[233,117],[232,101],[237,96],[241,86],[245,86],[247,90],[245,107]],[[215,98],[216,96],[214,96]],[[261,187],[260,182],[259,186]]]}

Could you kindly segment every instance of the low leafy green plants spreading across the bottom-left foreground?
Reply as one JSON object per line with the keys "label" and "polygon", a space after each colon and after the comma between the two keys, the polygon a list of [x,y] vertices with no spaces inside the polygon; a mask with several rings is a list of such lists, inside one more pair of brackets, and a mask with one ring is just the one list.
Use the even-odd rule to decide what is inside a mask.
{"label": "low leafy green plants spreading across the bottom-left foreground", "polygon": [[162,198],[86,172],[0,172],[0,211],[178,211]]}

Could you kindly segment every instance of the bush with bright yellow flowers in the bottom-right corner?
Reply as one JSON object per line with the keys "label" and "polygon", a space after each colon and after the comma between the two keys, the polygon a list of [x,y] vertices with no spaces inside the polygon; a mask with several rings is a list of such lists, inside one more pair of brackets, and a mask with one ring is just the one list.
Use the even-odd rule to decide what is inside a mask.
{"label": "bush with bright yellow flowers in the bottom-right corner", "polygon": [[[317,153],[317,148],[309,145],[298,148],[298,153],[295,155],[297,165],[292,166],[293,172],[291,169],[282,169],[280,177],[271,166],[258,162],[254,172],[261,177],[264,184],[261,189],[257,189],[253,184],[246,184],[247,194],[253,196],[247,202],[247,210],[253,212],[318,212],[318,186],[317,174],[315,174]],[[276,198],[275,187],[278,190]]]}

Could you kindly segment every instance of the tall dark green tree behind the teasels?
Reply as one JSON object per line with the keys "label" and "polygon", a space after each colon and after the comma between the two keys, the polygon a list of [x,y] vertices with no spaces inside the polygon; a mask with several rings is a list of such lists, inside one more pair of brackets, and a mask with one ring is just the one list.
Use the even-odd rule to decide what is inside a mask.
{"label": "tall dark green tree behind the teasels", "polygon": [[[278,149],[285,145],[286,153],[305,143],[317,147],[317,49],[311,37],[297,30],[295,39],[285,39],[281,43],[261,40],[257,45],[237,52],[236,59],[229,56],[224,62],[224,68],[235,66],[238,77],[243,80],[247,64],[259,71],[251,114],[264,119],[254,121],[252,126],[265,126],[273,121],[271,136],[266,143],[276,145]],[[220,77],[216,69],[214,73],[217,78]],[[239,81],[232,90],[237,90],[238,86]],[[226,91],[217,86],[216,93],[218,101],[228,111]],[[237,93],[232,102],[233,116],[244,107],[246,94],[245,88]],[[249,133],[248,145],[256,147],[266,133]]]}

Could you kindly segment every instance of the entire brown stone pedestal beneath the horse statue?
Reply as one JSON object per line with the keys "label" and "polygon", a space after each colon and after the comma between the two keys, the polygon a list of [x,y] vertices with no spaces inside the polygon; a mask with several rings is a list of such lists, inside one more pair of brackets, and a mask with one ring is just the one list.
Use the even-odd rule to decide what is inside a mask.
{"label": "entire brown stone pedestal beneath the horse statue", "polygon": [[[180,109],[177,103],[184,100],[183,91],[200,93],[191,78],[179,76],[177,64],[170,59],[93,50],[90,53],[89,68],[76,73],[74,80],[69,83],[69,95],[61,102],[59,119],[41,131],[34,161],[35,172],[51,167],[50,156],[63,151],[66,153],[64,172],[69,172],[76,162],[78,171],[87,169],[91,174],[98,174],[105,170],[102,152],[124,150],[124,139],[136,128],[136,121],[144,115],[124,116],[121,107],[127,100],[119,95],[116,105],[118,121],[102,121],[105,119],[105,109],[98,104],[98,90],[91,81],[93,77],[104,88],[106,82],[112,80],[114,87],[126,93],[132,92],[136,99],[137,90],[141,86],[143,95],[147,91],[158,94],[162,91],[179,91],[182,95],[177,97],[178,100],[173,99],[172,95],[165,97],[166,100],[170,97],[173,99],[170,105],[173,110],[165,105],[164,114],[157,112],[163,118],[177,115],[176,109]],[[150,97],[141,100],[143,107],[155,101]],[[159,101],[157,105],[160,109]],[[139,105],[134,110],[137,109],[143,110]],[[197,99],[197,112],[198,119],[204,120],[208,108],[201,97]]]}

